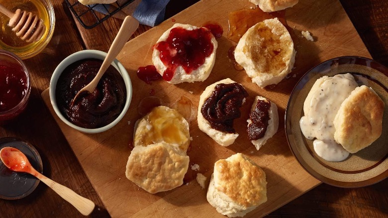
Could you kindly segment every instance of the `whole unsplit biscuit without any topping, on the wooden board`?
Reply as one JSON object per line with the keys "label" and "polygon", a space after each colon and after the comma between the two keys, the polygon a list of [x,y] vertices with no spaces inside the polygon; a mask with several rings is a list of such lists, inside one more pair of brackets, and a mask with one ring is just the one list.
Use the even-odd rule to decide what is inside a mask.
{"label": "whole unsplit biscuit without any topping, on the wooden board", "polygon": [[207,201],[228,217],[243,217],[267,202],[264,171],[246,156],[237,153],[214,164]]}

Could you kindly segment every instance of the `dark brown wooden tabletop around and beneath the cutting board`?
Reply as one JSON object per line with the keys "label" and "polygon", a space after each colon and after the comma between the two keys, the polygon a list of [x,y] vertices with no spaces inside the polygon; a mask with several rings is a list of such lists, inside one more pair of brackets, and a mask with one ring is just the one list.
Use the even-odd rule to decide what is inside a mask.
{"label": "dark brown wooden tabletop around and beneath the cutting board", "polygon": [[[0,137],[14,136],[29,141],[43,161],[43,174],[96,203],[91,217],[109,217],[40,94],[49,87],[52,72],[68,55],[84,50],[107,51],[121,20],[110,18],[86,30],[74,21],[63,0],[51,0],[56,28],[49,45],[39,55],[25,60],[30,70],[32,90],[26,111],[0,127]],[[171,0],[166,18],[197,0]],[[340,0],[372,57],[388,66],[388,1]],[[135,36],[150,27],[140,26]],[[82,32],[82,36],[80,32]],[[387,132],[383,132],[386,134]],[[128,204],[131,204],[128,202]],[[269,217],[388,217],[388,180],[375,185],[343,189],[319,185]],[[82,215],[40,183],[29,196],[20,200],[0,200],[0,217],[81,217]]]}

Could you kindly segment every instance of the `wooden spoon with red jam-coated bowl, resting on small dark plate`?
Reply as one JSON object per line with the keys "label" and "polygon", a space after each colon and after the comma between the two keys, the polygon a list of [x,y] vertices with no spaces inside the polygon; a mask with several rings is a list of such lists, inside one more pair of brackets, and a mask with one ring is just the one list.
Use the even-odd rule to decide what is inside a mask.
{"label": "wooden spoon with red jam-coated bowl, resting on small dark plate", "polygon": [[73,190],[52,181],[51,179],[36,171],[31,166],[27,157],[18,149],[11,147],[2,148],[0,150],[0,159],[10,170],[29,173],[38,178],[40,181],[54,190],[54,192],[56,192],[59,196],[72,204],[78,211],[81,212],[82,215],[90,215],[95,208],[95,203],[93,203],[91,200],[78,195]]}

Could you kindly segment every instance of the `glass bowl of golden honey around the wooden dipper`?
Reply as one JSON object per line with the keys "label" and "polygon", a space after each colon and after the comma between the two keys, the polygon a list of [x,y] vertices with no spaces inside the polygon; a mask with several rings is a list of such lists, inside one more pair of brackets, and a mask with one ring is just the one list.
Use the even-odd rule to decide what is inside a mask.
{"label": "glass bowl of golden honey around the wooden dipper", "polygon": [[[38,1],[40,3],[39,6],[45,8],[48,15],[48,22],[45,22],[46,30],[45,30],[45,33],[43,34],[43,38],[40,39],[38,42],[32,42],[28,45],[21,46],[21,47],[13,47],[3,42],[0,42],[0,49],[4,49],[14,53],[17,56],[19,56],[22,60],[34,57],[35,55],[43,51],[43,49],[50,42],[51,37],[53,36],[53,33],[54,33],[55,13],[54,13],[53,4],[51,3],[50,0],[35,0],[35,1]],[[39,14],[39,17],[40,16],[41,14]],[[16,34],[15,34],[15,37],[17,37]]]}

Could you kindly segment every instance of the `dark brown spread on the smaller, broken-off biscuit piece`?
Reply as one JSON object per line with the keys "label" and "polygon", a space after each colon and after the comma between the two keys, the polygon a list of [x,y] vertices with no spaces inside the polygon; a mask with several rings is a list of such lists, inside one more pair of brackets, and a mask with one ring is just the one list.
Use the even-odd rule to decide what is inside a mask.
{"label": "dark brown spread on the smaller, broken-off biscuit piece", "polygon": [[268,110],[271,108],[271,102],[257,100],[254,110],[249,114],[252,123],[248,125],[249,140],[262,138],[267,131],[270,115]]}

